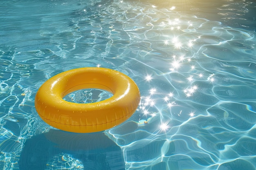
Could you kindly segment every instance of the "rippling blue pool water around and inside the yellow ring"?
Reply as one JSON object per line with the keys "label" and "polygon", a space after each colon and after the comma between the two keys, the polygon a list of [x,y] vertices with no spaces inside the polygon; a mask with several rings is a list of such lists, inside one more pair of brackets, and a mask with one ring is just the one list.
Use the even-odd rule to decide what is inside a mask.
{"label": "rippling blue pool water around and inside the yellow ring", "polygon": [[[255,170],[255,13],[249,0],[1,2],[0,169]],[[43,122],[38,88],[90,66],[136,82],[132,117],[92,134]]]}

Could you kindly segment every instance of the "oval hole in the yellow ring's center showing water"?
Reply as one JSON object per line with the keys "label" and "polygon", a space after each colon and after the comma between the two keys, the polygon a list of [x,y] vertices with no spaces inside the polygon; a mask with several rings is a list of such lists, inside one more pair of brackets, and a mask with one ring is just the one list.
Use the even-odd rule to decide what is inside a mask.
{"label": "oval hole in the yellow ring's center showing water", "polygon": [[112,96],[113,94],[109,91],[98,88],[86,88],[73,91],[64,96],[63,99],[73,103],[94,103],[106,100]]}

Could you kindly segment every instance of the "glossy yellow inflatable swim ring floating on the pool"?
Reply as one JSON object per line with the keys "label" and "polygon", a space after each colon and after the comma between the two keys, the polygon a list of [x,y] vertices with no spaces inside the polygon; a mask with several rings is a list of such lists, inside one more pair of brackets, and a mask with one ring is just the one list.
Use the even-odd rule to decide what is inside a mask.
{"label": "glossy yellow inflatable swim ring floating on the pool", "polygon": [[[65,95],[80,89],[98,88],[113,96],[95,103],[72,103]],[[36,93],[35,107],[50,126],[68,132],[99,132],[121,124],[140,102],[135,82],[115,70],[87,67],[65,71],[48,79]]]}

